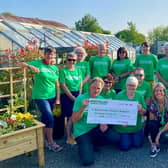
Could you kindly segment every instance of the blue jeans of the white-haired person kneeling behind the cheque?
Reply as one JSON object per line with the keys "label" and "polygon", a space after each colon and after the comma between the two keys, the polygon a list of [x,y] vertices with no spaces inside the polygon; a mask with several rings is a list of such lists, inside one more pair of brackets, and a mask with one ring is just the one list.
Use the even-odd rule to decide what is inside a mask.
{"label": "blue jeans of the white-haired person kneeling behind the cheque", "polygon": [[127,151],[131,147],[139,148],[143,145],[144,133],[139,130],[135,133],[120,133],[120,149]]}

